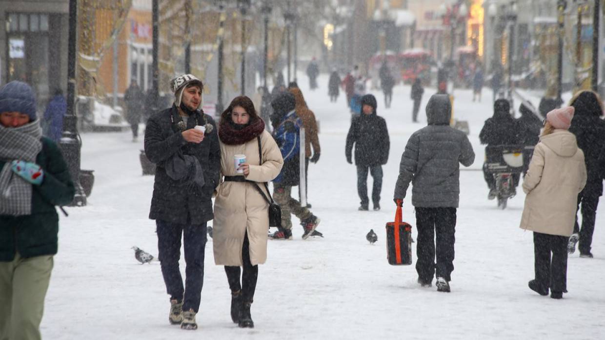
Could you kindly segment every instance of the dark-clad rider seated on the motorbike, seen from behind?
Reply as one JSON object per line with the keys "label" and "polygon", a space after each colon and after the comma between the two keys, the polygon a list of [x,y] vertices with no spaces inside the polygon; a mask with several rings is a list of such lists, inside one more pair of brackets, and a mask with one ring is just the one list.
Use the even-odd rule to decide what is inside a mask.
{"label": "dark-clad rider seated on the motorbike, seen from behind", "polygon": [[[485,120],[485,124],[479,132],[479,140],[487,146],[492,145],[511,145],[518,144],[519,137],[517,135],[517,122],[511,116],[511,104],[506,99],[498,99],[494,102],[494,116]],[[483,165],[483,177],[488,183],[489,195],[488,199],[495,198],[495,179],[494,175],[486,171],[485,164]],[[519,175],[512,175],[514,187],[519,183]],[[514,189],[514,188],[513,188]]]}

